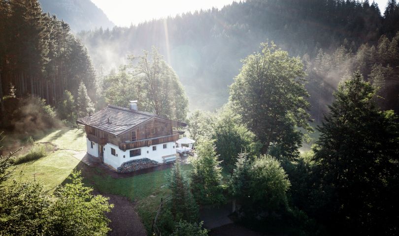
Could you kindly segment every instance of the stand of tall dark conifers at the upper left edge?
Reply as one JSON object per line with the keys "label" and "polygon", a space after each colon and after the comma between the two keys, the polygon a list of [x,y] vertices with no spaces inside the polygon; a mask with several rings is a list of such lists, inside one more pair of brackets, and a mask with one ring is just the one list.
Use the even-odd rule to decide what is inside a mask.
{"label": "stand of tall dark conifers at the upper left edge", "polygon": [[38,1],[1,0],[0,32],[2,127],[12,123],[13,116],[21,118],[17,108],[40,114],[40,109],[29,107],[29,99],[18,98],[32,95],[44,99],[32,104],[56,108],[64,106],[65,94],[83,94],[88,99],[88,93],[95,99],[96,73],[87,49],[68,24],[43,13]]}

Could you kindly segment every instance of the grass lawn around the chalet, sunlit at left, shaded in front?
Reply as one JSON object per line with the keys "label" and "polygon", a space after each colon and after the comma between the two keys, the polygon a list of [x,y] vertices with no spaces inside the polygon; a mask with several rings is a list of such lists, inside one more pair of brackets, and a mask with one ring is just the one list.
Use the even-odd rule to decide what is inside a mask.
{"label": "grass lawn around the chalet, sunlit at left, shaded in front", "polygon": [[[38,160],[16,166],[11,179],[22,181],[36,181],[42,183],[50,192],[65,183],[66,177],[74,169],[80,169],[87,185],[94,187],[100,193],[109,193],[129,198],[136,203],[136,211],[141,217],[147,232],[161,198],[170,194],[166,187],[166,174],[170,169],[151,172],[134,177],[113,178],[103,173],[100,168],[89,167],[73,157],[77,151],[86,150],[86,135],[84,130],[57,129],[49,130],[36,140],[38,143],[52,143],[56,150]],[[191,165],[183,165],[184,171],[190,170]],[[21,176],[20,173],[23,172]],[[12,180],[8,183],[11,184]],[[129,221],[129,219],[127,219]]]}

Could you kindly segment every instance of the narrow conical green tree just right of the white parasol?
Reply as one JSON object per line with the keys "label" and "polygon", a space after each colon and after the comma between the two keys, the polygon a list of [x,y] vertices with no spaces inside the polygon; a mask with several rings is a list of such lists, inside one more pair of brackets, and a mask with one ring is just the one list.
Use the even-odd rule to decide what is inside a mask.
{"label": "narrow conical green tree just right of the white parasol", "polygon": [[225,201],[222,185],[222,168],[216,155],[213,140],[202,140],[196,146],[197,158],[191,159],[191,190],[199,204],[220,204]]}

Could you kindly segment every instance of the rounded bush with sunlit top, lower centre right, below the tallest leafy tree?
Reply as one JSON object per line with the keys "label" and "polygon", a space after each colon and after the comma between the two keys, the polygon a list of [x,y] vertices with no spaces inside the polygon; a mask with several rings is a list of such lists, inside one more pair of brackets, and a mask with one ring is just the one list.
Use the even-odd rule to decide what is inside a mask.
{"label": "rounded bush with sunlit top, lower centre right, below the tallest leafy tree", "polygon": [[241,204],[245,218],[273,215],[287,207],[290,181],[280,163],[267,155],[252,163],[241,155],[230,181],[233,197]]}

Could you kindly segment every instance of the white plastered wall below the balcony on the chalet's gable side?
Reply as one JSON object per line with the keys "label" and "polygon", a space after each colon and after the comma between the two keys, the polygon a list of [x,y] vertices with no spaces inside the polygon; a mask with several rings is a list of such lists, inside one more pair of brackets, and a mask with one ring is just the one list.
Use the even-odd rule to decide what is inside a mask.
{"label": "white plastered wall below the balcony on the chalet's gable side", "polygon": [[[88,145],[89,145],[88,147],[90,148],[90,143]],[[123,151],[123,150],[119,149],[118,146],[108,143],[104,146],[104,163],[112,166],[115,169],[117,169],[119,166],[121,166],[121,164],[124,162],[130,161],[130,160],[135,160],[135,159],[141,159],[141,158],[148,158],[148,159],[155,160],[157,162],[162,163],[164,161],[164,159],[162,159],[163,156],[167,156],[167,155],[176,153],[176,147],[173,148],[175,145],[176,144],[174,142],[166,143],[166,148],[163,148],[164,144],[153,145],[153,146],[157,146],[157,150],[155,150],[155,151],[152,150],[153,146],[142,147],[141,155],[130,157],[130,150],[133,150],[133,149]],[[116,155],[114,156],[111,154],[111,148],[115,149],[115,154],[118,156],[116,156]],[[134,148],[134,149],[139,149],[139,148]],[[148,153],[147,153],[147,151],[148,151]]]}

